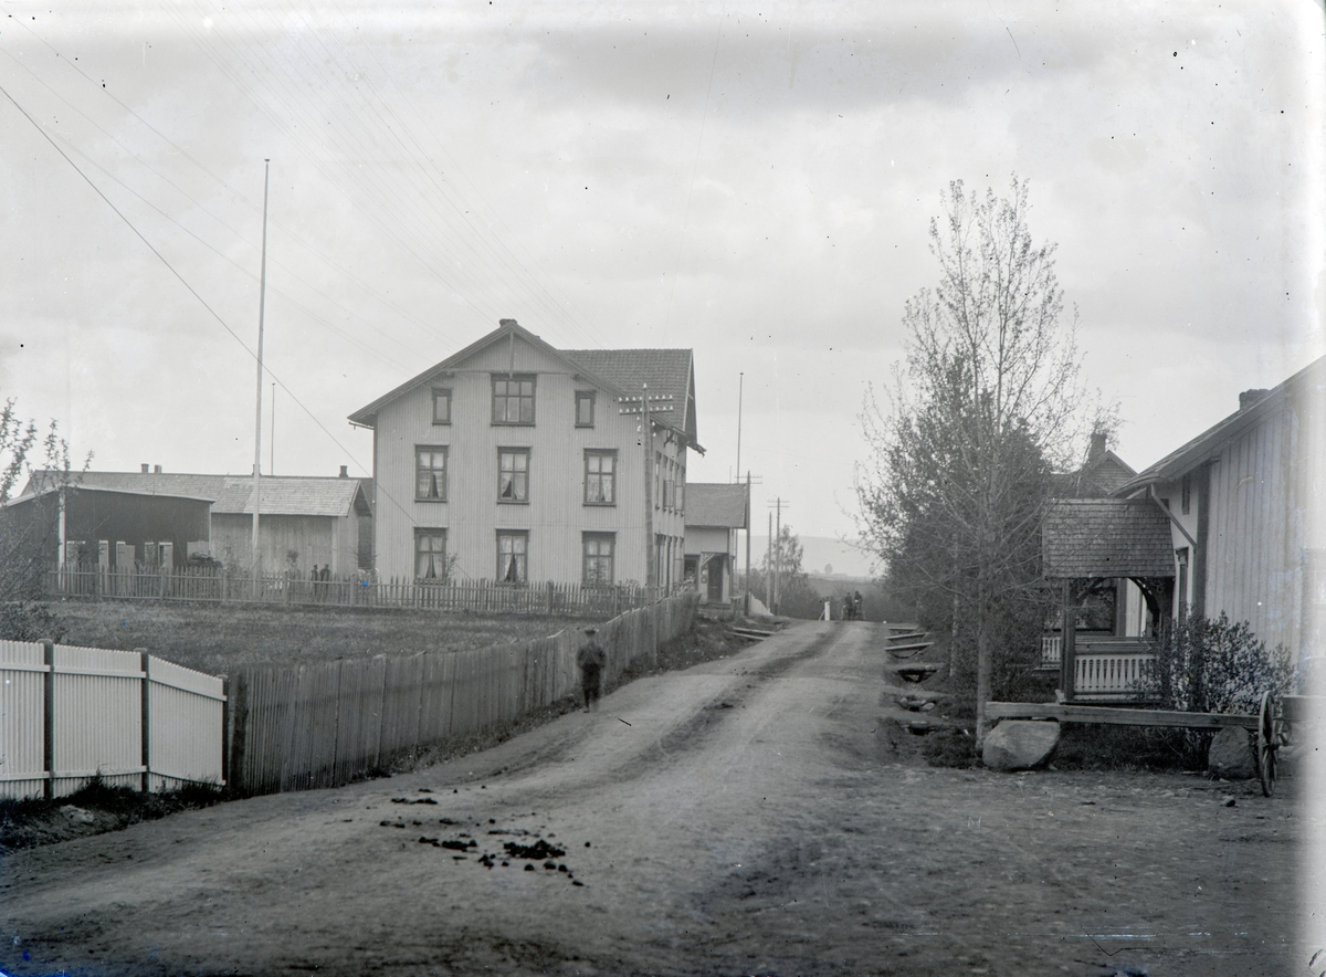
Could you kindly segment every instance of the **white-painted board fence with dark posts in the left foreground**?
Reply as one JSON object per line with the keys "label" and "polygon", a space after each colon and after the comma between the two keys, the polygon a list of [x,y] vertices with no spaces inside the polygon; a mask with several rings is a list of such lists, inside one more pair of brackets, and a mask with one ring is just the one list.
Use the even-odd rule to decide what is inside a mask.
{"label": "white-painted board fence with dark posts in the left foreground", "polygon": [[142,651],[0,642],[0,797],[64,797],[98,774],[221,785],[223,687]]}

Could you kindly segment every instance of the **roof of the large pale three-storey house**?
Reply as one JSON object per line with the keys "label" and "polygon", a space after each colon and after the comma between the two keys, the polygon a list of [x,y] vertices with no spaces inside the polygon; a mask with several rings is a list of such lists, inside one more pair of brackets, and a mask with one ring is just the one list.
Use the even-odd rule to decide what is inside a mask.
{"label": "roof of the large pale three-storey house", "polygon": [[651,396],[670,395],[674,408],[654,414],[652,420],[684,435],[696,451],[704,453],[696,440],[695,366],[691,350],[558,350],[522,327],[516,319],[503,319],[501,325],[488,335],[361,407],[350,415],[350,423],[374,427],[378,411],[383,406],[512,335],[562,361],[572,373],[583,375],[594,386],[617,396],[639,396],[644,383],[650,384]]}

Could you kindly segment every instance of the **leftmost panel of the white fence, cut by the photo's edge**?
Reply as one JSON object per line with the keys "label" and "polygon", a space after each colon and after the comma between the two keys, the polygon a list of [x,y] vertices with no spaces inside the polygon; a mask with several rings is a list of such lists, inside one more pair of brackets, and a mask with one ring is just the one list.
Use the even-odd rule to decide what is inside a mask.
{"label": "leftmost panel of the white fence, cut by the photo's edge", "polygon": [[0,642],[0,798],[45,790],[45,648]]}

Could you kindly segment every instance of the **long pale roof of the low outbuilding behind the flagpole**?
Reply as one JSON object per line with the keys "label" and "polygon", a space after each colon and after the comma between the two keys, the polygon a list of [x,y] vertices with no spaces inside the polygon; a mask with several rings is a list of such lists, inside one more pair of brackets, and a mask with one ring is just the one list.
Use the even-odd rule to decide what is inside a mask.
{"label": "long pale roof of the low outbuilding behind the flagpole", "polygon": [[[33,473],[29,489],[40,487],[44,472]],[[172,472],[84,472],[78,488],[133,492],[135,494],[183,496],[212,500],[217,516],[253,512],[253,476],[183,475]],[[263,516],[361,516],[371,514],[359,479],[264,475]]]}

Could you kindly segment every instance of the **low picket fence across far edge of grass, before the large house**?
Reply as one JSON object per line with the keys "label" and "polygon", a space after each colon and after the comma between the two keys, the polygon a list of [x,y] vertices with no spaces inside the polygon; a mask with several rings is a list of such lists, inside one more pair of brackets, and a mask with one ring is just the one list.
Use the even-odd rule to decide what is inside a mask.
{"label": "low picket fence across far edge of grass, before the large house", "polygon": [[617,615],[648,603],[642,587],[583,587],[575,583],[512,586],[495,581],[377,581],[369,575],[313,581],[289,573],[231,574],[215,567],[160,570],[52,570],[46,594],[118,601],[198,601],[328,607],[410,607],[475,614]]}

